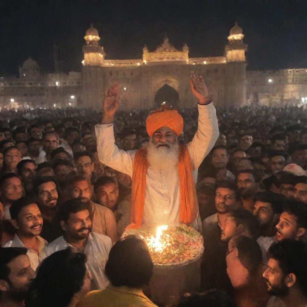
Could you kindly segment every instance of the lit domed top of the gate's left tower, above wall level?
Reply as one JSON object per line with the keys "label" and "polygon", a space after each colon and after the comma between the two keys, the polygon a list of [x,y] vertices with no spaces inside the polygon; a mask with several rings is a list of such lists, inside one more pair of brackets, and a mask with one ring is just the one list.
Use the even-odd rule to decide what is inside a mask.
{"label": "lit domed top of the gate's left tower, above wall level", "polygon": [[82,64],[84,66],[100,66],[106,54],[103,47],[99,44],[100,37],[97,29],[95,29],[93,25],[87,29],[84,39],[86,44],[82,48],[84,53]]}

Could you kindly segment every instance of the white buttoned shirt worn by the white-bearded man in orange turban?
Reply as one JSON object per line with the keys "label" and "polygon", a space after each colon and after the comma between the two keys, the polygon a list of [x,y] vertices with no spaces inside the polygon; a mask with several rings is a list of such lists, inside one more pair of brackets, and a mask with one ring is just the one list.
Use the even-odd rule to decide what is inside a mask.
{"label": "white buttoned shirt worn by the white-bearded man in orange turban", "polygon": [[[193,163],[194,181],[197,181],[197,169],[204,157],[213,148],[219,137],[216,109],[209,105],[198,105],[198,130],[187,144]],[[136,150],[119,150],[115,145],[113,124],[96,125],[97,151],[100,162],[132,177],[133,161]],[[143,224],[177,224],[180,212],[180,182],[177,166],[173,169],[154,169],[149,166],[146,174],[146,192]],[[201,221],[198,216],[197,223]]]}

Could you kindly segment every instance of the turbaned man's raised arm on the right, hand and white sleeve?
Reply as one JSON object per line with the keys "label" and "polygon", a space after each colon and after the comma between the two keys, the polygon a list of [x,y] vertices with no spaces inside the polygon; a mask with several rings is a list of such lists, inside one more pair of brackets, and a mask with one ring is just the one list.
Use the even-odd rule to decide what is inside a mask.
{"label": "turbaned man's raised arm on the right, hand and white sleeve", "polygon": [[209,100],[208,89],[201,75],[190,74],[190,88],[198,100],[198,129],[187,148],[194,169],[198,169],[204,157],[212,150],[219,137],[216,109]]}

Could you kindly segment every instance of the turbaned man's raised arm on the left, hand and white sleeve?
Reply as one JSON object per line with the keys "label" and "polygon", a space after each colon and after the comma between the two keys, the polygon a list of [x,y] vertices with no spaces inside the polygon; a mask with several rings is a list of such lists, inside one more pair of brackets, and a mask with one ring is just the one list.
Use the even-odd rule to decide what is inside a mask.
{"label": "turbaned man's raised arm on the left, hand and white sleeve", "polygon": [[113,120],[118,110],[118,99],[119,88],[114,85],[105,93],[101,125],[95,126],[97,152],[100,162],[131,177],[135,151],[120,150],[114,139]]}

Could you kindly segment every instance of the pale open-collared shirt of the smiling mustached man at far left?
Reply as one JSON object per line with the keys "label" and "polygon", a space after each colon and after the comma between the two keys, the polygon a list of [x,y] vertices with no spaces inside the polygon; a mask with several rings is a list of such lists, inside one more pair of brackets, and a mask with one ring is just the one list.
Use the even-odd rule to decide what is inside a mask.
{"label": "pale open-collared shirt of the smiling mustached man at far left", "polygon": [[21,240],[18,238],[17,234],[14,235],[13,240],[10,240],[4,247],[25,247],[28,249],[27,251],[27,256],[30,259],[30,264],[31,267],[34,271],[36,271],[38,265],[42,262],[44,259],[44,253],[42,252],[42,249],[48,245],[48,242],[40,237],[39,235],[36,236],[37,240],[39,241],[38,245],[38,252],[39,254],[37,255],[37,252],[34,251],[32,248],[28,248],[21,242]]}

